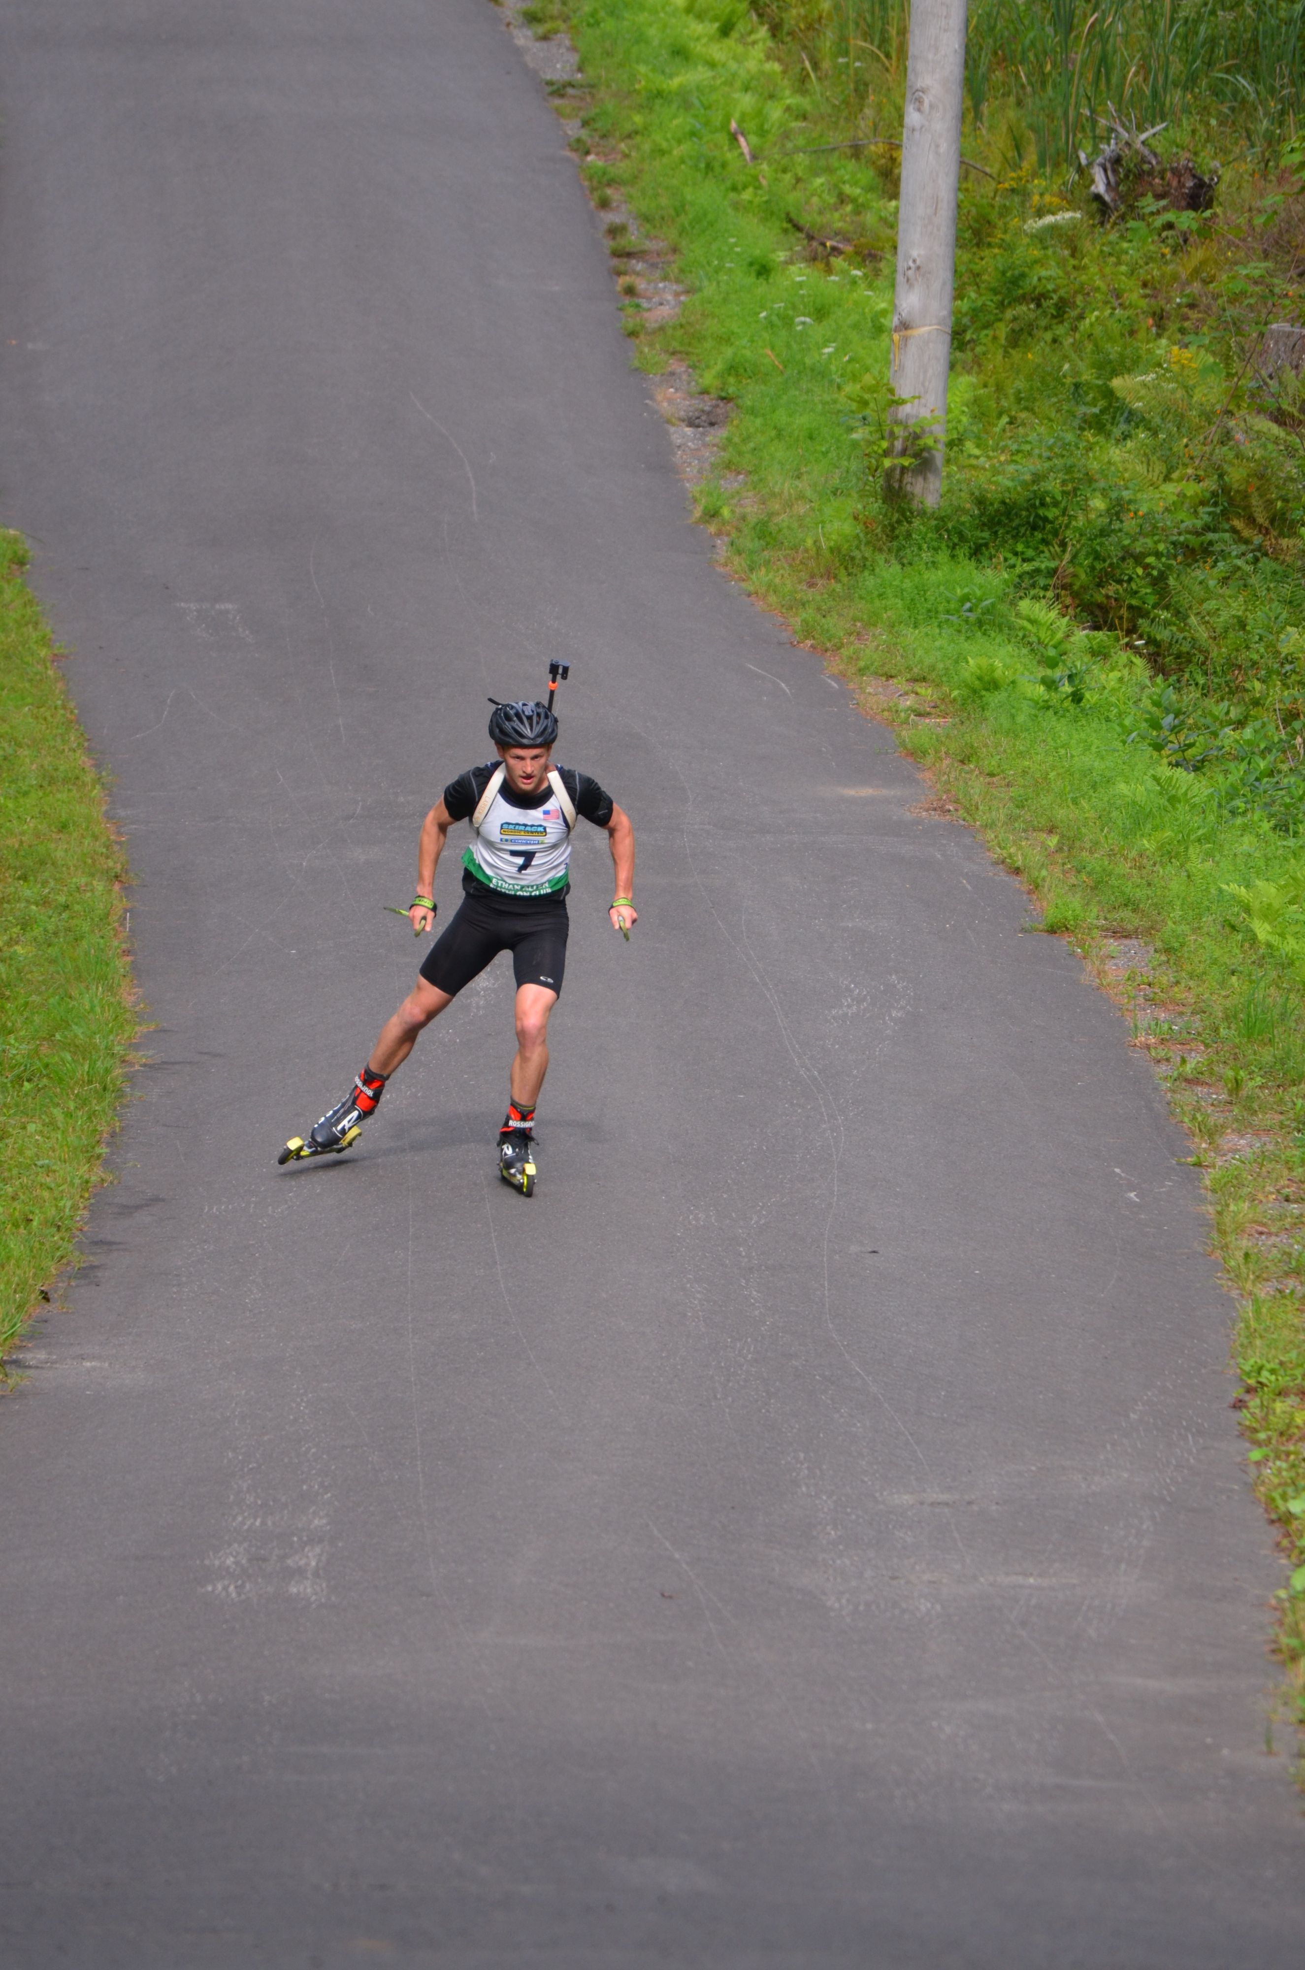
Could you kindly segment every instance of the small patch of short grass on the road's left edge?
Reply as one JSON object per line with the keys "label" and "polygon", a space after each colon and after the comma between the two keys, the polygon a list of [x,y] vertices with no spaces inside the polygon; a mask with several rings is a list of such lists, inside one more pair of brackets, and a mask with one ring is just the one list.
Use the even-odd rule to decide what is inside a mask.
{"label": "small patch of short grass on the road's left edge", "polygon": [[73,1257],[136,1032],[122,853],[26,561],[0,532],[0,1363]]}

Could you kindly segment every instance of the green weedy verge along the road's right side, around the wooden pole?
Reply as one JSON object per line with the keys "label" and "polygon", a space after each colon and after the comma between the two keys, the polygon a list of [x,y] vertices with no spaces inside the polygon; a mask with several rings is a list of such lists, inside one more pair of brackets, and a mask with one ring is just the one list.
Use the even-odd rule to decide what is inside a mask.
{"label": "green weedy verge along the road's right side, around the wooden pole", "polygon": [[[530,14],[578,45],[599,207],[625,199],[686,288],[652,333],[627,313],[637,361],[735,406],[700,518],[1132,1009],[1193,1135],[1305,1724],[1305,441],[1240,355],[1248,292],[1293,305],[1301,189],[1248,158],[1218,225],[1147,195],[1100,227],[1003,156],[1009,102],[968,128],[994,177],[962,197],[950,489],[905,514],[877,471],[893,156],[802,150],[840,130],[832,93],[761,8]],[[627,292],[629,252],[617,227]]]}

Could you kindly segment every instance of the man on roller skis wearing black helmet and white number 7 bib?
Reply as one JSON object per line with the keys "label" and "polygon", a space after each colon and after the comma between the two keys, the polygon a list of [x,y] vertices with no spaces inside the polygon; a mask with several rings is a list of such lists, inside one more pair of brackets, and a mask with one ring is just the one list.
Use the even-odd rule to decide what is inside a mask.
{"label": "man on roller skis wearing black helmet and white number 7 bib", "polygon": [[[554,666],[554,672],[562,666]],[[566,672],[562,672],[566,676]],[[550,697],[556,691],[556,676]],[[471,821],[473,843],[463,855],[463,900],[453,922],[430,950],[414,989],[384,1022],[367,1066],[343,1101],[313,1125],[308,1143],[292,1137],[278,1162],[325,1156],[349,1149],[361,1123],[375,1113],[384,1084],[402,1066],[416,1036],[451,1005],[463,985],[499,952],[513,953],[516,973],[516,1058],[511,1101],[499,1131],[499,1174],[526,1198],[534,1190],[534,1103],[548,1072],[548,1015],[566,969],[566,894],[576,816],[607,829],[617,896],[607,912],[627,938],[639,920],[635,829],[597,780],[552,764],[558,719],[550,705],[497,705],[489,737],[499,764],[473,766],[444,788],[422,823],[416,857],[416,896],[408,918],[418,936],[436,920],[436,867],[449,827]]]}

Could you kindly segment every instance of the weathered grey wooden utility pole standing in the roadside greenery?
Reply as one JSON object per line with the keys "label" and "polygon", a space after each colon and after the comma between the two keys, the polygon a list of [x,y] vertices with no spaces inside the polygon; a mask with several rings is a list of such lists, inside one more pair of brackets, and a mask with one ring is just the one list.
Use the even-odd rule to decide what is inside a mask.
{"label": "weathered grey wooden utility pole standing in the roadside greenery", "polygon": [[[927,506],[942,498],[964,83],[966,0],[911,0],[889,370],[895,396],[911,402],[895,404],[889,424],[901,426],[893,449],[915,463],[891,465],[889,485]],[[925,433],[932,445],[921,445]]]}

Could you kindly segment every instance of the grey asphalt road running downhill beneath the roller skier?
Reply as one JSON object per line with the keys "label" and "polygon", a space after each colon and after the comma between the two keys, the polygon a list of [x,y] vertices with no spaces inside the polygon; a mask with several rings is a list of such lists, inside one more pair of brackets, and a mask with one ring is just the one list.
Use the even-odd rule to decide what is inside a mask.
{"label": "grey asphalt road running downhill beneath the roller skier", "polygon": [[[1299,1952],[1279,1580],[1145,1062],[716,573],[485,0],[2,0],[4,518],[158,1020],[0,1411],[0,1962]],[[278,1170],[570,658],[540,1190],[499,965]],[[453,857],[442,871],[455,900]]]}

